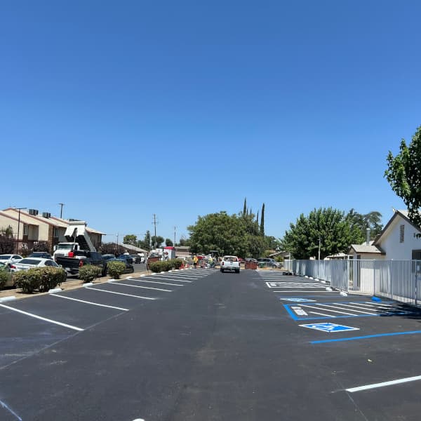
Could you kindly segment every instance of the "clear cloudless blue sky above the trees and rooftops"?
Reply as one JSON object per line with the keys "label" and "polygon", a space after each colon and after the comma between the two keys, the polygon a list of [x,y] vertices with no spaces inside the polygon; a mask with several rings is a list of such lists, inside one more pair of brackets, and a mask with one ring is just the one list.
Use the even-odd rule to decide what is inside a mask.
{"label": "clear cloudless blue sky above the trees and rooftops", "polygon": [[[198,215],[403,202],[383,177],[421,124],[419,1],[2,1],[1,208],[109,234]],[[121,237],[120,237],[121,238]]]}

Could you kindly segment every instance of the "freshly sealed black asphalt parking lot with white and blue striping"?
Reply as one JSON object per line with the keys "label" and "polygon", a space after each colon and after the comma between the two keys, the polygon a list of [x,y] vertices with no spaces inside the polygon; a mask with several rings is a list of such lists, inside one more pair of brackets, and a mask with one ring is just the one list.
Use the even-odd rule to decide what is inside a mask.
{"label": "freshly sealed black asphalt parking lot with white and blue striping", "polygon": [[419,420],[420,313],[326,287],[191,269],[4,303],[0,420]]}

